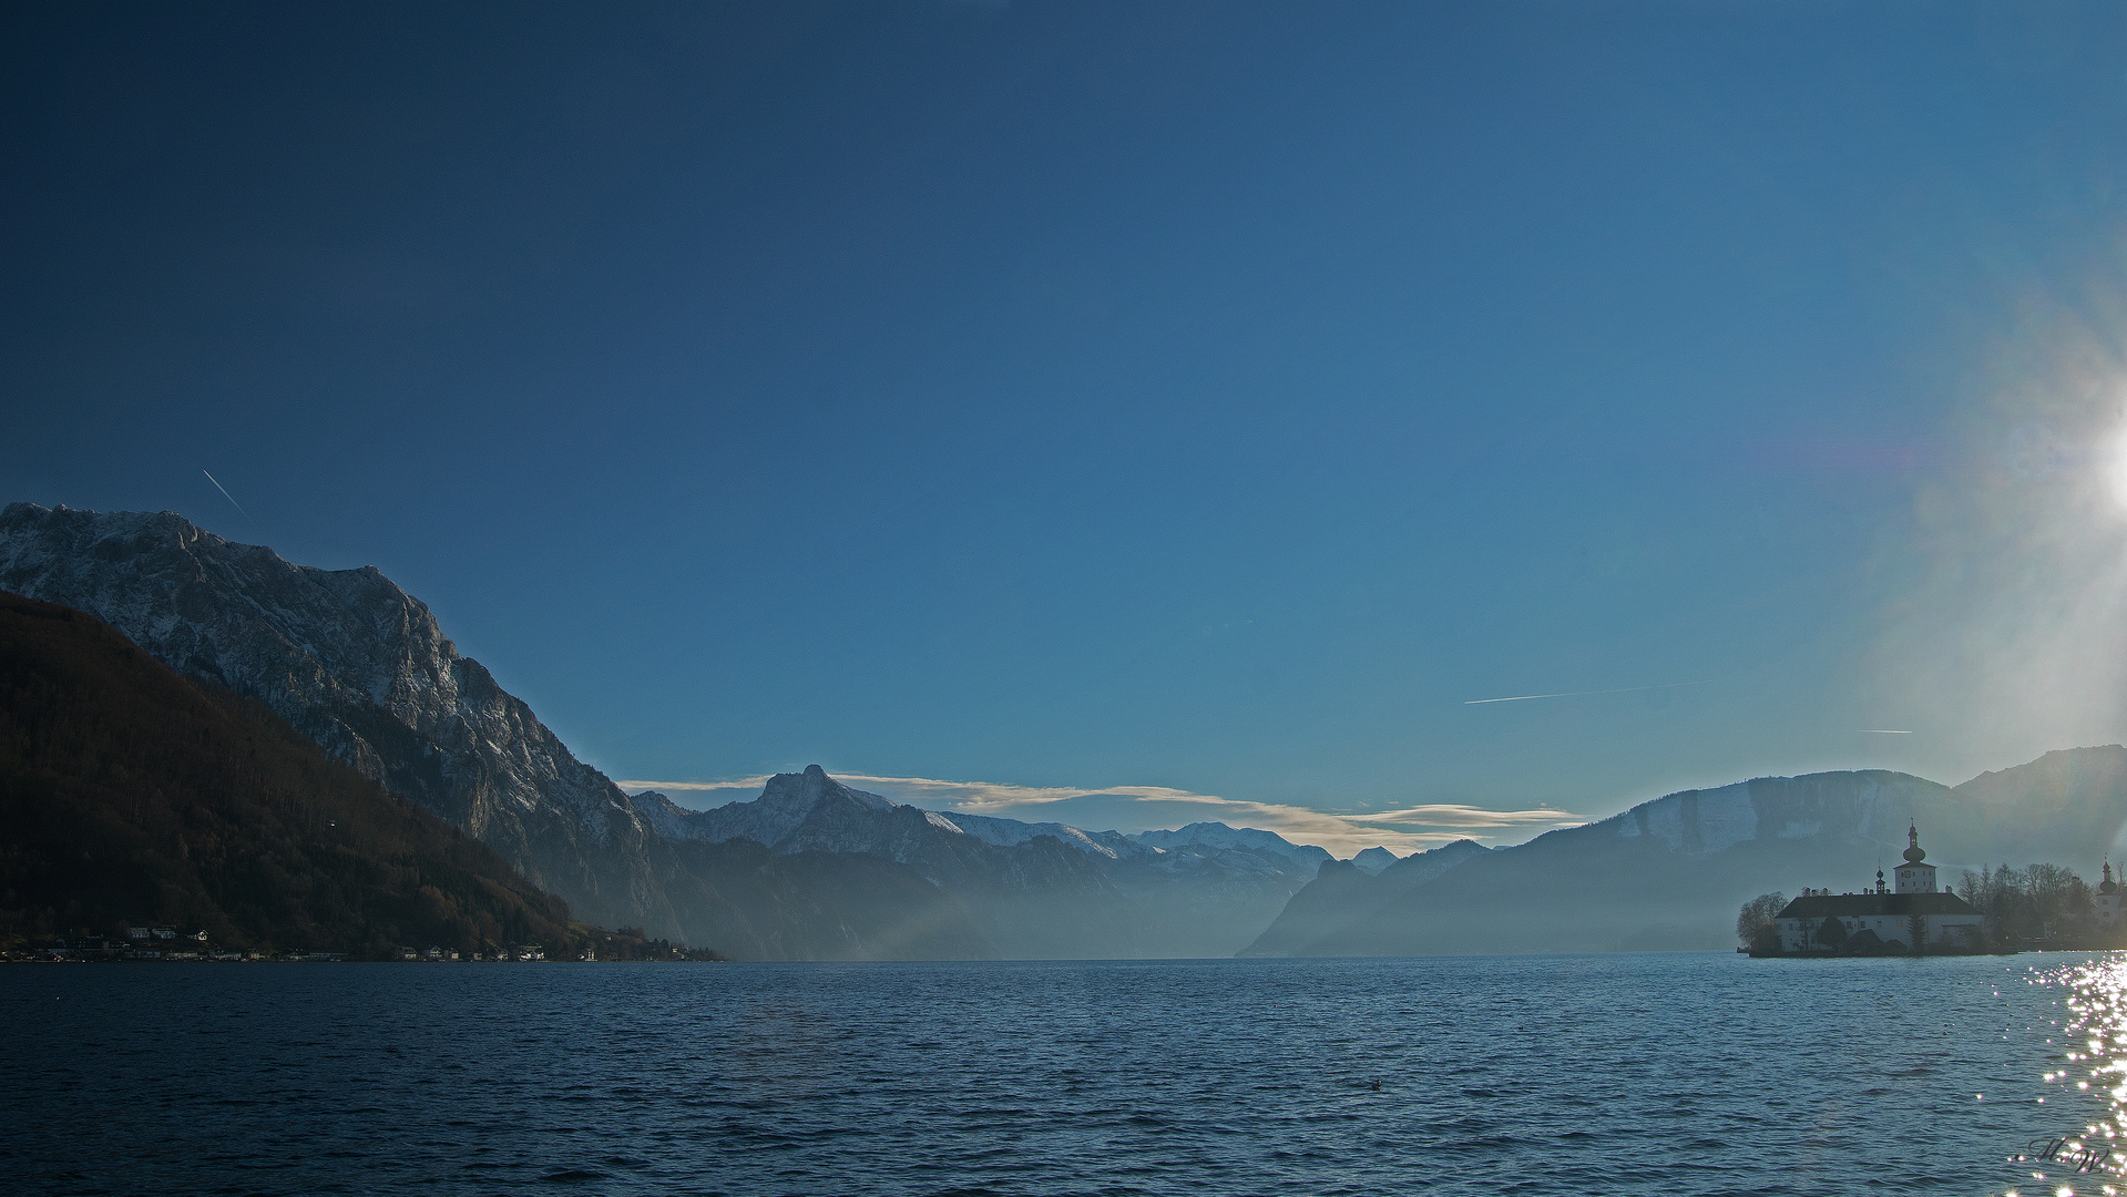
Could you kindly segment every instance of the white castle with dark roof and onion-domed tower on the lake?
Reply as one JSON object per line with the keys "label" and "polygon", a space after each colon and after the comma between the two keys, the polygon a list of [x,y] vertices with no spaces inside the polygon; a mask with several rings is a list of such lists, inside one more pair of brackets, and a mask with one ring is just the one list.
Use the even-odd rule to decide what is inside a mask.
{"label": "white castle with dark roof and onion-domed tower on the lake", "polygon": [[[1802,891],[1802,897],[1789,901],[1774,916],[1774,925],[1780,929],[1780,950],[1912,950],[1914,944],[1923,952],[1980,950],[1984,944],[1980,912],[1963,897],[1936,884],[1936,865],[1927,863],[1927,853],[1921,850],[1919,827],[1906,829],[1906,863],[1895,870],[1895,891],[1885,889],[1882,870],[1878,870],[1874,891]],[[2108,887],[2110,878],[2108,867]],[[2112,908],[2118,910],[2116,893]]]}

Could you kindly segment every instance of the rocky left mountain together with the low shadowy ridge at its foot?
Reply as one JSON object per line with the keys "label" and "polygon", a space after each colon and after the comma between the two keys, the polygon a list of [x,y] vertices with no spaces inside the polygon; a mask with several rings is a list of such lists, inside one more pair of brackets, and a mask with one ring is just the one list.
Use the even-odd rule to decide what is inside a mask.
{"label": "rocky left mountain together with the low shadowy ridge at its foot", "polygon": [[659,836],[374,568],[296,566],[174,512],[11,504],[0,591],[85,610],[264,704],[585,921],[738,957],[995,955],[957,899],[891,861]]}

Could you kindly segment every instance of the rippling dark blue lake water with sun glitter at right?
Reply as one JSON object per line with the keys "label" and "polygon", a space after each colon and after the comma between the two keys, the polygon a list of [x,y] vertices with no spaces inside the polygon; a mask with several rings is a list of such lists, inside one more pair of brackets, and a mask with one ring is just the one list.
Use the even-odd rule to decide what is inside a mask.
{"label": "rippling dark blue lake water with sun glitter at right", "polygon": [[2123,993],[2097,955],[17,965],[0,1176],[2029,1197],[2063,1182],[2008,1157],[2114,1118],[2076,1082],[2127,1055]]}

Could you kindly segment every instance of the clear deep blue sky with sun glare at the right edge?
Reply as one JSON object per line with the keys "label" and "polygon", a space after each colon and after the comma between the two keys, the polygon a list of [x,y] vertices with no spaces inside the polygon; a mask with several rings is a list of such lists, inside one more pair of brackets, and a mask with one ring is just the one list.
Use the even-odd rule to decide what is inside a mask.
{"label": "clear deep blue sky with sun glare at the right edge", "polygon": [[2127,6],[4,13],[0,498],[381,566],[615,778],[2123,738]]}

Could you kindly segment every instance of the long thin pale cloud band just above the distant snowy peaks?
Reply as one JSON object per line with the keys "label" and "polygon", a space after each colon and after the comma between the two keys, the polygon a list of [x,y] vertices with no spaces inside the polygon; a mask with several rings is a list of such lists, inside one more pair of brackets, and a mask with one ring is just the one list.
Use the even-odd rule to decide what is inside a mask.
{"label": "long thin pale cloud band just above the distant snowy peaks", "polygon": [[[964,814],[991,814],[998,819],[1023,819],[1027,823],[1070,823],[1093,831],[1153,831],[1183,827],[1187,823],[1225,823],[1229,827],[1259,827],[1276,831],[1295,844],[1319,844],[1338,857],[1351,857],[1363,848],[1383,846],[1395,855],[1423,853],[1451,840],[1478,840],[1495,844],[1502,838],[1519,838],[1536,827],[1572,827],[1582,823],[1565,810],[1487,810],[1483,806],[1410,806],[1404,810],[1336,814],[1308,806],[1276,802],[1242,802],[1210,793],[1191,793],[1155,785],[1125,785],[1106,789],[1081,787],[1025,787],[1008,782],[955,782],[938,778],[887,778],[876,774],[834,774],[836,780],[881,793],[910,806],[932,810],[959,810]],[[691,808],[723,806],[727,802],[749,802],[761,791],[768,776],[730,778],[713,782],[655,782],[623,780],[621,789],[638,793],[644,789],[664,791],[681,802],[683,795],[702,795],[706,802],[681,802]],[[1487,836],[1487,831],[1491,831]]]}

